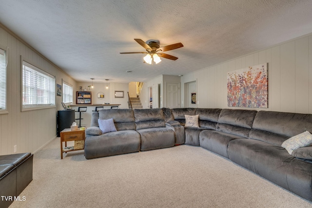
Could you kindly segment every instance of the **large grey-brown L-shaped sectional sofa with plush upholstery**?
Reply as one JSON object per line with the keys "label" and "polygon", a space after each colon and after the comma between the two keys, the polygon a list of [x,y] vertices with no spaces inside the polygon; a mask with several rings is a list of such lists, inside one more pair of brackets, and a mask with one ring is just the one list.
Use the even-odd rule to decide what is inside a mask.
{"label": "large grey-brown L-shaped sectional sofa with plush upholstery", "polygon": [[[186,127],[185,115],[199,115]],[[114,119],[102,133],[98,119]],[[92,114],[85,157],[104,157],[187,144],[215,152],[274,184],[312,201],[312,146],[290,154],[284,141],[312,132],[312,114],[238,109],[110,109]]]}

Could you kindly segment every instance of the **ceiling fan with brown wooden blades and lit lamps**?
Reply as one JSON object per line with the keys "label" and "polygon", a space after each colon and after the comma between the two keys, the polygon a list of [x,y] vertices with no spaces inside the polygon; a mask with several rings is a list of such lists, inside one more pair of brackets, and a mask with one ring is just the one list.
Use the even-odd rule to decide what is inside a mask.
{"label": "ceiling fan with brown wooden blades and lit lamps", "polygon": [[146,63],[152,64],[153,61],[157,64],[159,63],[160,57],[168,58],[171,60],[176,60],[178,57],[171,56],[169,54],[164,54],[164,51],[171,51],[177,48],[183,47],[182,43],[175,43],[172,45],[167,45],[164,47],[159,48],[159,41],[158,40],[149,40],[148,43],[144,42],[141,39],[135,39],[138,44],[140,44],[143,48],[145,48],[146,52],[123,52],[120,54],[147,54],[143,59]]}

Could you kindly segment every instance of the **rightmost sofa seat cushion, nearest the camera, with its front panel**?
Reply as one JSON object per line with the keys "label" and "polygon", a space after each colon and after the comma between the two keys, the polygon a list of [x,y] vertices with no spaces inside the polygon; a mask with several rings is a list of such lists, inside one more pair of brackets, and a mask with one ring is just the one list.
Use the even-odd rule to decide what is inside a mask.
{"label": "rightmost sofa seat cushion, nearest the camera, with its front panel", "polygon": [[284,148],[254,139],[234,139],[228,154],[234,163],[288,189],[288,173],[295,159]]}

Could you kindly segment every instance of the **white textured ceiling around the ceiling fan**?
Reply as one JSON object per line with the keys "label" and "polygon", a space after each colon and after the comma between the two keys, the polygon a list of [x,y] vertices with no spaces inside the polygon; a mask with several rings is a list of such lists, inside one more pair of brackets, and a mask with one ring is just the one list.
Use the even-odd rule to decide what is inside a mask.
{"label": "white textured ceiling around the ceiling fan", "polygon": [[[312,33],[312,0],[0,0],[0,23],[79,82],[146,81]],[[134,38],[184,47],[149,65]]]}

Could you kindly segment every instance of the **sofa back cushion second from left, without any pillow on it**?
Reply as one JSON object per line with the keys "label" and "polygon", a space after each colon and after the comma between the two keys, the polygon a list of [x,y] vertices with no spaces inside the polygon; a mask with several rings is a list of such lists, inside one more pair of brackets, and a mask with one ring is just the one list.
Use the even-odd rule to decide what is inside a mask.
{"label": "sofa back cushion second from left, without any pillow on it", "polygon": [[134,109],[137,130],[166,127],[161,109]]}

